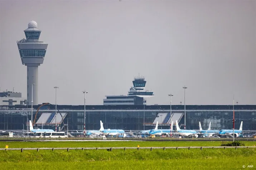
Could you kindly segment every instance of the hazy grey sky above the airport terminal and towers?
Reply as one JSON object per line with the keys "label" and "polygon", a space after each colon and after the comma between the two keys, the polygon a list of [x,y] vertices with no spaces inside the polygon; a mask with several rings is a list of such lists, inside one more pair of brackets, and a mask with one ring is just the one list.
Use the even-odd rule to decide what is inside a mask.
{"label": "hazy grey sky above the airport terminal and towers", "polygon": [[145,76],[148,104],[256,104],[255,1],[0,0],[1,91],[26,97],[17,40],[34,20],[48,43],[39,103],[102,104]]}

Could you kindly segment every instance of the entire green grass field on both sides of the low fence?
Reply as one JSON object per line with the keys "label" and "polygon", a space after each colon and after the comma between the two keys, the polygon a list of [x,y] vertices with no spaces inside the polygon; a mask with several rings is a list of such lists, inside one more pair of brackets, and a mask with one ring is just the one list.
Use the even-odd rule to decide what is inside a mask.
{"label": "entire green grass field on both sides of the low fence", "polygon": [[[253,146],[255,141],[245,141]],[[220,146],[221,141],[0,142],[0,148]],[[0,151],[0,169],[243,169],[256,166],[255,148],[144,150]],[[233,163],[232,163],[233,162]],[[255,167],[253,167],[255,168]]]}

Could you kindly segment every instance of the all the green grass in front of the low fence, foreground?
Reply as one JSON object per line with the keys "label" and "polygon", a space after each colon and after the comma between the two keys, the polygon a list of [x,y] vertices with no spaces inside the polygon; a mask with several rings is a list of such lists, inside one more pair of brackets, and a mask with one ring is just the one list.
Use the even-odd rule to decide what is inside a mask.
{"label": "all the green grass in front of the low fence, foreground", "polygon": [[[1,151],[0,169],[242,169],[256,149]],[[233,163],[232,163],[233,162]],[[235,162],[235,163],[234,163]]]}

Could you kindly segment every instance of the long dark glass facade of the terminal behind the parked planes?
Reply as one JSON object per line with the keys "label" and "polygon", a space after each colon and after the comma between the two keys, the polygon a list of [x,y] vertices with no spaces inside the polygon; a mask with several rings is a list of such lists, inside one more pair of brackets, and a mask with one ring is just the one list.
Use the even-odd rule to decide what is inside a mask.
{"label": "long dark glass facade of the terminal behind the parked planes", "polygon": [[[38,107],[39,105],[33,106],[33,118]],[[232,107],[232,105],[186,105],[186,129],[199,129],[199,121],[203,129],[207,129],[210,122],[212,129],[231,129],[233,128]],[[0,130],[22,130],[23,124],[26,129],[27,117],[29,120],[31,118],[31,106],[28,108],[30,109],[26,110],[24,105],[0,106]],[[61,124],[62,130],[67,129],[67,118],[68,129],[83,130],[83,105],[57,105],[57,108],[60,112],[67,113]],[[152,124],[159,113],[169,111],[170,105],[86,105],[86,129],[100,129],[100,120],[102,120],[105,129],[143,130],[143,123]],[[42,113],[52,112],[55,112],[54,105],[40,108],[37,120]],[[172,105],[172,112],[184,113],[184,105]],[[256,130],[256,105],[235,105],[235,120],[235,129],[239,129],[243,121],[243,130]],[[184,128],[184,117],[181,118],[179,125],[181,129]],[[145,130],[154,127],[155,125],[145,125]],[[160,127],[161,125],[159,129]],[[166,127],[168,125],[165,124]],[[44,125],[44,128],[55,129],[50,125]]]}

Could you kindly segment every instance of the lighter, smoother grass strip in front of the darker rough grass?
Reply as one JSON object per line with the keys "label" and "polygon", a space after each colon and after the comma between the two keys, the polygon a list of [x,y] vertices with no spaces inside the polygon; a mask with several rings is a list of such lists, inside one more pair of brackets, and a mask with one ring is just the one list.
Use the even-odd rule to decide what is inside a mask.
{"label": "lighter, smoother grass strip in front of the darker rough grass", "polygon": [[[233,163],[236,160],[236,163]],[[74,170],[74,169],[87,169],[87,170],[163,170],[163,169],[184,169],[184,170],[194,170],[194,169],[219,169],[219,170],[236,170],[243,169],[243,165],[255,165],[255,161],[248,160],[245,158],[227,158],[225,160],[220,159],[177,159],[177,160],[146,160],[146,161],[93,161],[93,162],[31,162],[31,163],[1,163],[0,169],[61,169],[61,170]],[[253,167],[255,168],[255,167]],[[252,169],[253,169],[252,168]]]}

